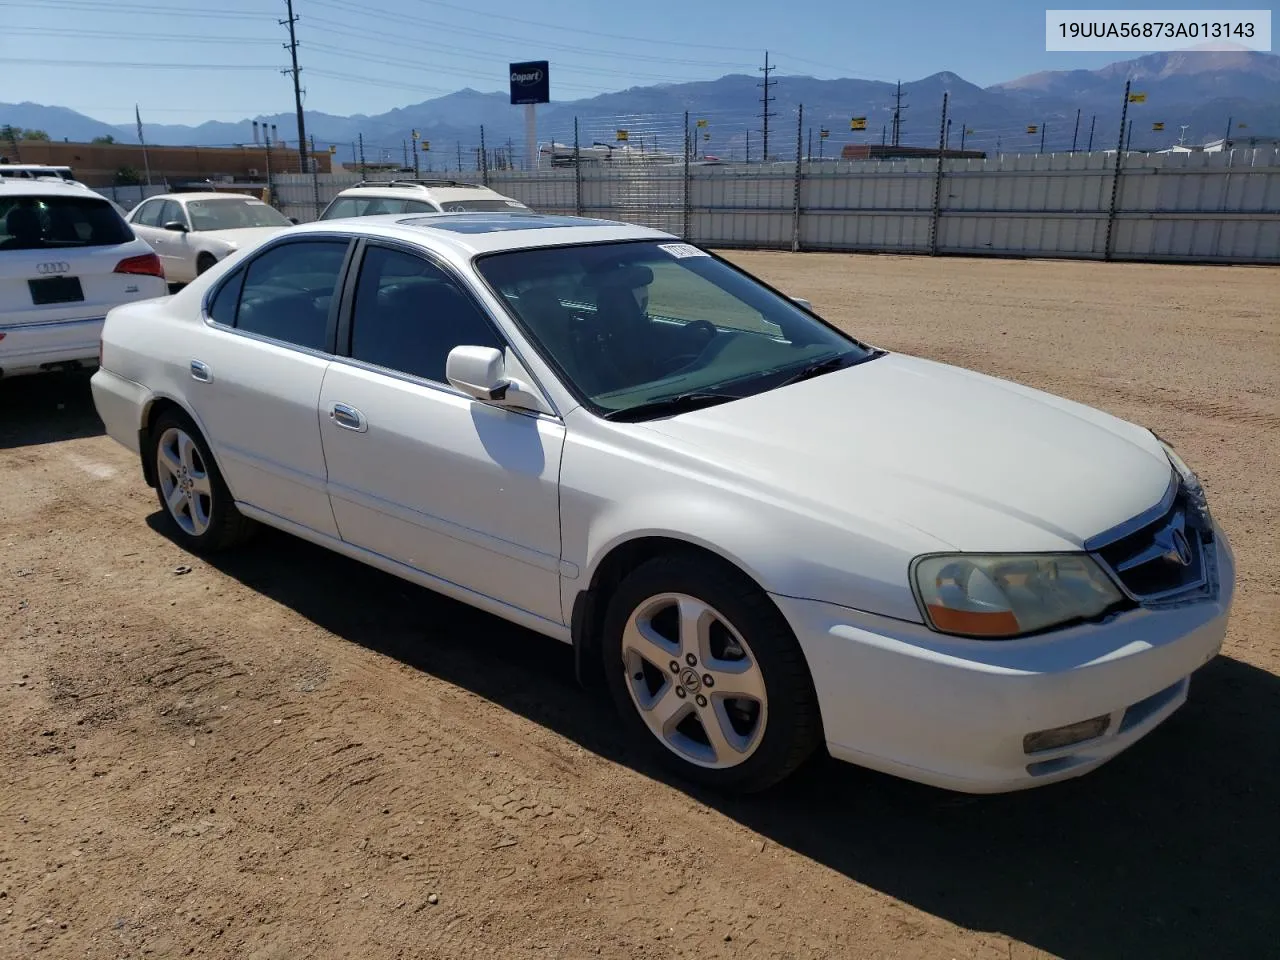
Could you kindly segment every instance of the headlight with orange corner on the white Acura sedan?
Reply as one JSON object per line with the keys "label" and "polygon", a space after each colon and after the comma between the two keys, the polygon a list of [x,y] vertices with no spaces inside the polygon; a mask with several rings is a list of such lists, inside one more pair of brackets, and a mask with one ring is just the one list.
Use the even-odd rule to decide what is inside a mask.
{"label": "headlight with orange corner on the white Acura sedan", "polygon": [[1124,599],[1087,554],[933,554],[913,567],[916,598],[941,634],[1009,639],[1105,613]]}

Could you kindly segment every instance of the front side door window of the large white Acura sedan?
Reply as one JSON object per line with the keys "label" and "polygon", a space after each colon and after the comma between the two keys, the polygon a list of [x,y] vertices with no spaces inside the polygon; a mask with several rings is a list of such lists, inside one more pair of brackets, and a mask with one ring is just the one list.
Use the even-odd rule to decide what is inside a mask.
{"label": "front side door window of the large white Acura sedan", "polygon": [[461,346],[507,344],[443,270],[412,253],[369,247],[356,283],[351,356],[447,383],[445,360]]}

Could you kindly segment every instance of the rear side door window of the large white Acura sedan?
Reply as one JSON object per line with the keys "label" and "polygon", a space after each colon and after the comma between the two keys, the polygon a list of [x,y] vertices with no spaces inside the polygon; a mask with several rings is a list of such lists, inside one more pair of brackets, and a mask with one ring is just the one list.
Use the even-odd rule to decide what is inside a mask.
{"label": "rear side door window of the large white Acura sedan", "polygon": [[[236,328],[298,347],[328,349],[346,241],[282,243],[250,261]],[[215,305],[220,306],[220,305]]]}

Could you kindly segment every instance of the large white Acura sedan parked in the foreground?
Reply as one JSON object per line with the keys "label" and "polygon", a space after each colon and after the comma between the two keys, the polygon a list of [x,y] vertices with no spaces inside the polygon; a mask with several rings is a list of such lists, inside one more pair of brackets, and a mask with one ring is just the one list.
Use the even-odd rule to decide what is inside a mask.
{"label": "large white Acura sedan parked in the foreground", "polygon": [[822,746],[966,792],[1079,776],[1179,708],[1234,591],[1149,430],[640,227],[298,227],[113,310],[92,389],[191,550],[266,524],[570,643],[727,790]]}

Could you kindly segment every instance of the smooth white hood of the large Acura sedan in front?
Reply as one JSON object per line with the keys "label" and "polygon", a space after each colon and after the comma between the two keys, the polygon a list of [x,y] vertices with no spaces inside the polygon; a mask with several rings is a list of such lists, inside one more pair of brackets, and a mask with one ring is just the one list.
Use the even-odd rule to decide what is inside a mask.
{"label": "smooth white hood of the large Acura sedan in front", "polygon": [[964,550],[1078,549],[1172,477],[1143,428],[904,355],[636,426],[832,522]]}

